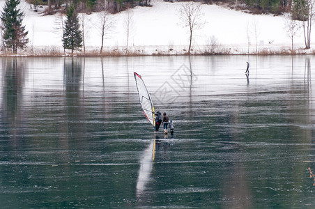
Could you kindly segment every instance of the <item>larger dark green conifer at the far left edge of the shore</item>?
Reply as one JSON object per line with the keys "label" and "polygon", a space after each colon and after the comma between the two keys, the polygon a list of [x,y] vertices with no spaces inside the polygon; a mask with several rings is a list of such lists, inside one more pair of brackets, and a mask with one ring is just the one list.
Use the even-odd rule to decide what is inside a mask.
{"label": "larger dark green conifer at the far left edge of the shore", "polygon": [[17,53],[17,48],[23,49],[29,42],[26,38],[28,31],[22,26],[24,14],[17,8],[20,0],[6,0],[1,13],[1,30],[3,33],[3,47],[12,49]]}

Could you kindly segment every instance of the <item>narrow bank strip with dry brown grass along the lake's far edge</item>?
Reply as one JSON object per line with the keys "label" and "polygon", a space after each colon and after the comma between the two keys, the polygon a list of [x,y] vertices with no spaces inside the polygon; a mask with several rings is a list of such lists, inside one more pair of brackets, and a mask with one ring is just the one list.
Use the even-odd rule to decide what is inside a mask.
{"label": "narrow bank strip with dry brown grass along the lake's far edge", "polygon": [[0,57],[89,57],[89,56],[227,56],[227,55],[312,55],[315,49],[302,47],[238,47],[235,45],[197,46],[192,48],[190,54],[186,46],[132,46],[107,47],[100,53],[97,47],[89,47],[86,52],[76,51],[73,54],[69,50],[64,51],[61,47],[32,47],[20,50],[17,54],[9,51],[1,52]]}

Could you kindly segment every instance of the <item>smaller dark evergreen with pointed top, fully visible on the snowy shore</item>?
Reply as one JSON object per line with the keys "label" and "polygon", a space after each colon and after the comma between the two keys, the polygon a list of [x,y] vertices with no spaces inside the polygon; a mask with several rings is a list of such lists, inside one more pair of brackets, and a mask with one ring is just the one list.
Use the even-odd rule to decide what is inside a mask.
{"label": "smaller dark evergreen with pointed top, fully visible on the snowy shore", "polygon": [[67,19],[65,23],[65,30],[63,33],[63,47],[65,49],[73,50],[80,49],[82,47],[82,31],[80,30],[79,17],[75,12],[75,8],[71,6],[67,13]]}

